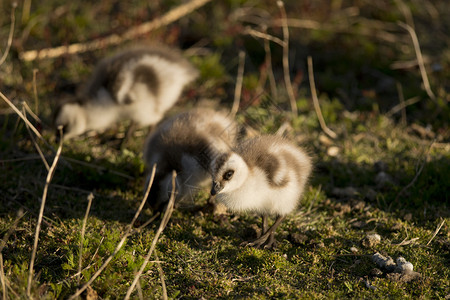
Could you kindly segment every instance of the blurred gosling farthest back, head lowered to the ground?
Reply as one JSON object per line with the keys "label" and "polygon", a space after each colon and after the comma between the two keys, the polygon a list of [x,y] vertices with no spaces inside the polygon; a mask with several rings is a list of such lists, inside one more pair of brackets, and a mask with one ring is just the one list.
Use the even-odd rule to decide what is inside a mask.
{"label": "blurred gosling farthest back, head lowered to the ground", "polygon": [[[64,139],[101,132],[122,120],[154,125],[198,71],[175,49],[140,46],[101,60],[78,94],[61,103],[54,125]],[[131,126],[130,126],[131,127]]]}

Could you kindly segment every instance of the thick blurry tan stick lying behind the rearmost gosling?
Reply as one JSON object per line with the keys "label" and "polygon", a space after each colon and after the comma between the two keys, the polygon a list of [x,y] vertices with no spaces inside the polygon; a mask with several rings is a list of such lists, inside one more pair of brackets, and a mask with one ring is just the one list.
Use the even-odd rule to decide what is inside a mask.
{"label": "thick blurry tan stick lying behind the rearmost gosling", "polygon": [[86,43],[75,43],[67,46],[59,46],[56,48],[25,51],[20,54],[20,58],[25,61],[43,58],[54,58],[65,54],[83,53],[102,49],[107,46],[118,45],[126,40],[135,39],[138,36],[144,35],[152,30],[175,22],[176,20],[186,16],[187,14],[193,12],[197,8],[205,5],[210,1],[211,0],[191,0],[185,4],[175,7],[160,18],[130,28],[122,35],[112,34],[107,37],[96,39]]}

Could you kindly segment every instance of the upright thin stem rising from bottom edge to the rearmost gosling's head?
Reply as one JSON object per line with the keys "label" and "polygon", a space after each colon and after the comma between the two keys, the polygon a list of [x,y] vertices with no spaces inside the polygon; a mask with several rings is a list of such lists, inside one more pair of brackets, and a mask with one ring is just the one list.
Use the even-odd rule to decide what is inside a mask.
{"label": "upright thin stem rising from bottom edge to the rearmost gosling's head", "polygon": [[53,174],[55,173],[56,166],[58,164],[59,157],[61,155],[62,150],[62,130],[60,128],[60,134],[61,134],[61,141],[59,143],[58,150],[56,151],[55,159],[53,160],[52,166],[50,167],[47,178],[45,180],[45,186],[44,191],[42,192],[42,200],[41,200],[41,208],[39,210],[39,216],[38,221],[36,225],[36,232],[34,235],[34,245],[33,245],[33,251],[31,252],[31,261],[30,261],[30,269],[28,273],[28,284],[27,284],[27,296],[31,298],[31,281],[33,279],[33,269],[34,269],[34,260],[36,259],[36,251],[37,251],[37,244],[39,240],[39,232],[41,230],[41,223],[42,223],[42,217],[44,215],[44,207],[45,207],[45,201],[47,199],[47,192],[48,192],[48,186],[50,185],[50,181],[52,180]]}

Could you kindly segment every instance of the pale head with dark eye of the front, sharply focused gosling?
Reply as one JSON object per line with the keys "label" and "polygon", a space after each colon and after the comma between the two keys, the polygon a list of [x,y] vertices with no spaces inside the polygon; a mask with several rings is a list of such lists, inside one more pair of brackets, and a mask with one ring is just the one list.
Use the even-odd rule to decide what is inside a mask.
{"label": "pale head with dark eye of the front, sharply focused gosling", "polygon": [[241,188],[249,175],[249,168],[240,155],[222,154],[212,162],[211,195],[232,193]]}

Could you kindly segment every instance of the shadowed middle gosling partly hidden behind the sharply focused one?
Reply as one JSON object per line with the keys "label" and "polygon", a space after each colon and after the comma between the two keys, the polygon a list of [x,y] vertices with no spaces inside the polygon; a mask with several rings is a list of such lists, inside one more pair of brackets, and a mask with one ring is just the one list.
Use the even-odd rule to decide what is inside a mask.
{"label": "shadowed middle gosling partly hidden behind the sharply focused one", "polygon": [[[176,203],[211,186],[211,162],[235,145],[238,126],[211,109],[194,109],[159,125],[147,138],[144,161],[156,164],[149,204],[156,212],[165,207],[172,191],[172,171],[177,172]],[[147,177],[147,184],[150,174]]]}

